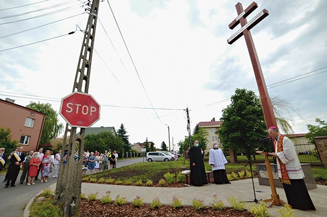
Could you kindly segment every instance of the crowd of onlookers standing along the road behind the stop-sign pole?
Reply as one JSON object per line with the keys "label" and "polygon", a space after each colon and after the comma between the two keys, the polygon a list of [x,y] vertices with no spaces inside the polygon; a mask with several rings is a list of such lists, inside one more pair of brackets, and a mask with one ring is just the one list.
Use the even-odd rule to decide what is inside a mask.
{"label": "crowd of onlookers standing along the road behind the stop-sign pole", "polygon": [[[16,180],[18,178],[20,170],[19,184],[26,182],[27,185],[34,185],[36,180],[40,182],[48,182],[50,173],[53,178],[58,177],[60,159],[62,151],[57,154],[53,154],[52,151],[47,150],[43,153],[43,149],[40,148],[38,152],[30,151],[26,156],[22,153],[23,147],[17,147],[16,150],[10,153],[8,156],[5,153],[5,148],[0,148],[0,171],[6,166],[6,161],[9,161],[8,171],[6,173],[3,182],[6,182],[5,188],[9,186],[15,187]],[[66,162],[66,151],[64,152],[63,162]],[[75,152],[75,160],[78,160],[77,152]],[[90,173],[101,172],[102,170],[109,170],[116,167],[116,161],[118,154],[116,151],[90,152],[86,151],[83,154],[83,167],[82,174],[86,174],[89,170]],[[40,177],[40,178],[39,178]]]}

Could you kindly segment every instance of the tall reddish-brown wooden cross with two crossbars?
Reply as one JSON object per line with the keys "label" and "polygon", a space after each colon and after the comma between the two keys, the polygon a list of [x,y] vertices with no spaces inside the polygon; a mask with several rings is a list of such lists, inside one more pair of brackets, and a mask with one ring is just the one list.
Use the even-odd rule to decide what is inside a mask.
{"label": "tall reddish-brown wooden cross with two crossbars", "polygon": [[246,17],[252,13],[256,8],[258,8],[258,4],[253,2],[249,7],[243,10],[243,6],[241,3],[238,3],[236,6],[236,10],[238,13],[238,17],[236,17],[229,25],[229,29],[234,29],[239,23],[241,23],[241,29],[233,34],[228,40],[228,44],[232,44],[237,39],[244,35],[245,42],[250,54],[254,75],[256,79],[256,83],[258,84],[258,89],[261,98],[261,105],[264,112],[266,126],[267,129],[274,126],[277,127],[277,122],[275,118],[275,114],[272,109],[271,100],[269,98],[266,82],[262,73],[261,65],[259,62],[258,55],[256,54],[255,46],[253,43],[253,39],[250,33],[250,29],[252,29],[255,25],[257,25],[261,20],[269,15],[268,11],[264,9],[258,15],[253,17],[249,22],[247,22]]}

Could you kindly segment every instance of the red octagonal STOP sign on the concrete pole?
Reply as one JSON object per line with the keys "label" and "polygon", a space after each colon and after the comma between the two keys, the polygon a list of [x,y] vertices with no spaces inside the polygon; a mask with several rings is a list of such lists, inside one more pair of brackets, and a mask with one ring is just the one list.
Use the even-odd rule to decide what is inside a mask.
{"label": "red octagonal STOP sign on the concrete pole", "polygon": [[90,94],[73,92],[61,99],[60,115],[72,127],[89,128],[100,119],[100,105]]}

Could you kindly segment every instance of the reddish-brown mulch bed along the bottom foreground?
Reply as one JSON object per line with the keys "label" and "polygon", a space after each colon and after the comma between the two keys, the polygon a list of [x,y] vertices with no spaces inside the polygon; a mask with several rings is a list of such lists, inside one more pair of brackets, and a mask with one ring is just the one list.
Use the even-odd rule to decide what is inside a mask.
{"label": "reddish-brown mulch bed along the bottom foreground", "polygon": [[86,199],[81,200],[80,216],[99,216],[99,217],[143,217],[143,216],[173,216],[173,217],[248,217],[253,216],[249,211],[234,211],[231,208],[225,208],[222,211],[214,210],[211,207],[205,207],[201,210],[195,210],[191,206],[182,206],[174,209],[169,205],[162,205],[158,209],[151,209],[149,204],[144,204],[142,207],[134,207],[132,204],[115,205],[102,204],[99,200],[88,202]]}

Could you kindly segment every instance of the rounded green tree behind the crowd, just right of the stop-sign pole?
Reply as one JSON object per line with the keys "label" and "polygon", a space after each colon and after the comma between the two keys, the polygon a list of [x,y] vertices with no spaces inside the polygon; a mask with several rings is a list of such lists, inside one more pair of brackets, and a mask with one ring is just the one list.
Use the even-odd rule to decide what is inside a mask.
{"label": "rounded green tree behind the crowd, just right of the stop-sign pole", "polygon": [[100,132],[98,134],[89,134],[85,136],[84,150],[104,153],[104,151],[108,149],[111,149],[111,151],[116,150],[117,153],[123,153],[123,139],[120,136],[113,135],[111,132]]}

